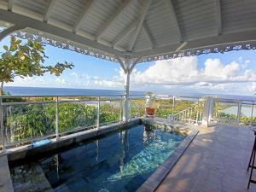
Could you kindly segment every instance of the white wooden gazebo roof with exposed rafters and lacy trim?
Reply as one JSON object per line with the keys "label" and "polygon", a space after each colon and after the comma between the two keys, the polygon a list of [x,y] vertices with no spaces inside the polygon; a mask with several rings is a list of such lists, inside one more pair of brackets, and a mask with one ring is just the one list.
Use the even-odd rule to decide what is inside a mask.
{"label": "white wooden gazebo roof with exposed rafters and lacy trim", "polygon": [[0,0],[3,25],[111,61],[255,49],[255,0]]}

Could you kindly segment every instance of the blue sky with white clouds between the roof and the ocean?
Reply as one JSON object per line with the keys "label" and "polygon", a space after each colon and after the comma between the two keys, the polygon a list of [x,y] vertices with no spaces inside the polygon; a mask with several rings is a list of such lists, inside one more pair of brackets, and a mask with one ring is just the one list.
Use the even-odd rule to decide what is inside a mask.
{"label": "blue sky with white clouds between the roof and the ocean", "polygon": [[[3,44],[9,44],[9,38],[0,43],[0,51],[3,51]],[[60,77],[47,74],[44,77],[16,78],[15,82],[5,85],[123,89],[124,74],[118,63],[49,45],[46,45],[46,55],[49,56],[46,65],[71,61],[75,67]],[[256,92],[255,61],[255,50],[239,50],[140,63],[131,75],[131,90],[151,90],[159,94],[200,92],[252,96]]]}

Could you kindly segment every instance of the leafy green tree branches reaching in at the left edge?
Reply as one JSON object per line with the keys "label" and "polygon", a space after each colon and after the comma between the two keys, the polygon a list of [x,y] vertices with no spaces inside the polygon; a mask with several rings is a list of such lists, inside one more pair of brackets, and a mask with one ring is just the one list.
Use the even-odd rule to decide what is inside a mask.
{"label": "leafy green tree branches reaching in at the left edge", "polygon": [[44,44],[31,40],[22,44],[20,39],[11,37],[9,47],[3,45],[3,49],[0,58],[0,96],[3,95],[3,83],[13,82],[15,77],[43,76],[44,73],[59,76],[65,69],[73,68],[73,64],[67,61],[44,66],[44,61],[48,58],[44,54]]}

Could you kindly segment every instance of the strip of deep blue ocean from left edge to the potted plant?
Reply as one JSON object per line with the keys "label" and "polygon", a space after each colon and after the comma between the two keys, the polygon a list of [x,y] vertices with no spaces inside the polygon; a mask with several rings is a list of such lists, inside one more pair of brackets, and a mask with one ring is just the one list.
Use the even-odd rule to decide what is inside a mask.
{"label": "strip of deep blue ocean from left edge to the potted plant", "polygon": [[[123,90],[94,90],[46,87],[5,86],[3,91],[13,96],[116,96],[123,95]],[[131,95],[145,95],[143,91],[130,91]]]}

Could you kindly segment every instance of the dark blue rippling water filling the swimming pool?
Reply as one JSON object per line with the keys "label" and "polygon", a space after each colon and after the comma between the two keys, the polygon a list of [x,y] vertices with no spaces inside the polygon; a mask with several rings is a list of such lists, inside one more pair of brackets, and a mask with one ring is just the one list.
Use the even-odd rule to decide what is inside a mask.
{"label": "dark blue rippling water filling the swimming pool", "polygon": [[182,136],[137,125],[10,169],[15,192],[136,191]]}

